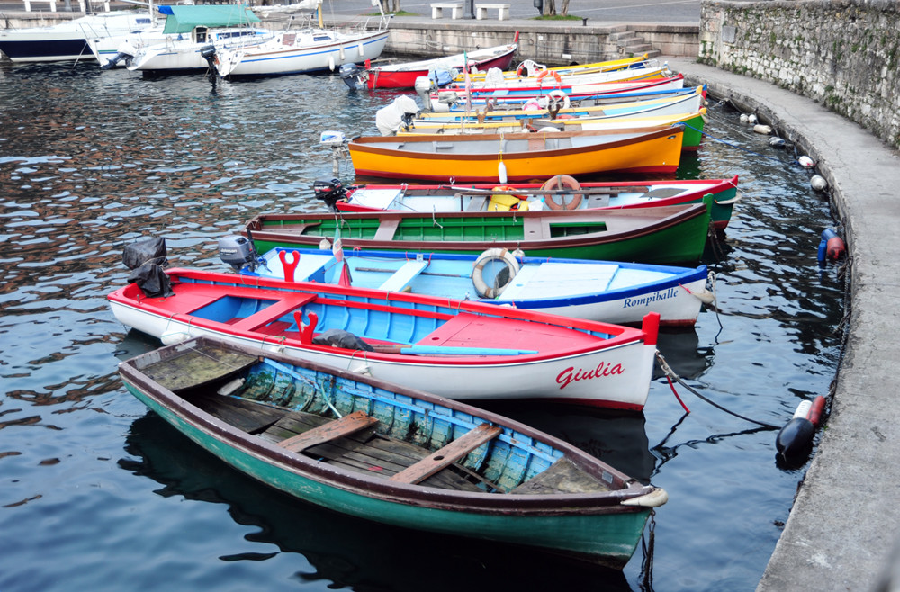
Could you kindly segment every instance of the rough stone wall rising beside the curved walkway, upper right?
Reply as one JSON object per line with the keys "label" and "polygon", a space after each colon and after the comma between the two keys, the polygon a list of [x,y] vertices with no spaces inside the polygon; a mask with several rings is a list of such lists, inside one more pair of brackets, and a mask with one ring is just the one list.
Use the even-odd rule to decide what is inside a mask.
{"label": "rough stone wall rising beside the curved walkway, upper right", "polygon": [[822,103],[900,148],[897,0],[704,0],[698,55]]}

